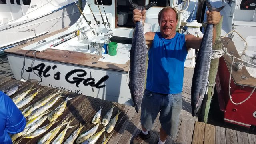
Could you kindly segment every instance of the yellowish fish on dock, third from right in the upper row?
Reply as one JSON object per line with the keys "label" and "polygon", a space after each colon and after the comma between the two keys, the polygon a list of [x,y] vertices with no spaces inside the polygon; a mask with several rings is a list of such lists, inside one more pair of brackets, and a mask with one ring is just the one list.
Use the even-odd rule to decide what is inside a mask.
{"label": "yellowish fish on dock, third from right in the upper row", "polygon": [[51,100],[54,96],[56,96],[57,94],[61,94],[62,92],[60,92],[60,90],[54,94],[50,94],[49,96],[44,97],[42,100],[39,100],[38,102],[36,102],[35,104],[28,106],[27,108],[25,108],[22,111],[22,114],[24,115],[24,117],[26,118],[27,116],[29,116],[31,114],[31,112],[33,112],[35,109],[44,106],[49,100]]}

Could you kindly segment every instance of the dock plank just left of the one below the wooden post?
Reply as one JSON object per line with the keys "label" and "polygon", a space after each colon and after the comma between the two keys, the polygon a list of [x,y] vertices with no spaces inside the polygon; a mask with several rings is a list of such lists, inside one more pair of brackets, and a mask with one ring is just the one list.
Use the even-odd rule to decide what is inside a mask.
{"label": "dock plank just left of the one below the wooden post", "polygon": [[194,121],[182,118],[176,143],[191,144],[194,124]]}

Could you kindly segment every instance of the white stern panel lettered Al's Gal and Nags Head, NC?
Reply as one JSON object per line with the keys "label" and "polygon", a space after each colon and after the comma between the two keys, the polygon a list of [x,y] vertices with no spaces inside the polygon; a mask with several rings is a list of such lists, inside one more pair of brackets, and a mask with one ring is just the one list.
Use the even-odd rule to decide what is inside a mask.
{"label": "white stern panel lettered Al's Gal and Nags Head, NC", "polygon": [[[26,57],[23,77],[25,79],[35,78],[39,81],[40,78],[30,68],[32,60],[33,58]],[[22,80],[23,56],[8,54],[8,61],[14,77],[17,80]],[[42,78],[40,84],[43,86],[132,105],[126,82],[127,72],[41,59],[35,60],[33,70]]]}

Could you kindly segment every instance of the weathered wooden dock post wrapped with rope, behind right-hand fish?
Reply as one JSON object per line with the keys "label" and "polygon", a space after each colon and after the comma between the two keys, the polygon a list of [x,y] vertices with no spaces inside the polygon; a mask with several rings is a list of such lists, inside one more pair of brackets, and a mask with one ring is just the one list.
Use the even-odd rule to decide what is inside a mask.
{"label": "weathered wooden dock post wrapped with rope, behind right-hand fish", "polygon": [[[221,50],[222,49],[222,44],[220,41],[222,20],[223,20],[223,16],[221,16],[220,23],[218,25],[216,25],[216,40],[212,47],[213,50]],[[200,121],[200,122],[206,123],[208,120],[210,104],[211,104],[212,96],[214,94],[215,78],[217,75],[218,66],[219,66],[219,58],[212,59],[211,64],[210,64],[209,77],[208,77],[210,86],[208,88],[208,93],[207,93],[207,95],[204,96],[204,100],[202,102],[200,116],[198,117],[198,121]]]}

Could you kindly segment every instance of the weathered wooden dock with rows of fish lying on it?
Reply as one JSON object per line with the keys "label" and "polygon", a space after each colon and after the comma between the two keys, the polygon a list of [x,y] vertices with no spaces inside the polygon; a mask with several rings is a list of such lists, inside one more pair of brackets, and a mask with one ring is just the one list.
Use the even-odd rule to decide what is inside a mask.
{"label": "weathered wooden dock with rows of fish lying on it", "polygon": [[[45,86],[39,86],[37,84],[22,82],[18,80],[14,80],[12,78],[0,78],[0,90],[7,90],[13,85],[18,84],[18,91],[11,96],[14,97],[20,92],[28,90],[30,88],[43,88],[43,92],[40,92],[32,102],[27,104],[27,106],[34,104],[41,98],[57,92],[54,88],[48,88]],[[22,84],[22,85],[21,85]],[[33,92],[33,91],[32,91]],[[31,92],[31,93],[32,93]],[[57,119],[59,120],[54,124],[50,130],[54,127],[61,124],[65,119],[73,120],[70,125],[77,125],[74,128],[68,129],[64,140],[68,138],[79,127],[79,122],[85,125],[81,132],[85,130],[89,130],[94,126],[90,121],[92,120],[94,114],[99,110],[100,106],[103,106],[102,115],[106,114],[106,112],[111,108],[113,104],[117,105],[114,108],[113,115],[117,114],[118,110],[123,111],[119,117],[118,122],[116,123],[116,127],[114,128],[114,134],[110,138],[109,144],[130,144],[133,136],[138,134],[141,129],[140,124],[140,111],[138,113],[135,112],[134,107],[118,104],[114,102],[109,102],[106,100],[101,100],[98,98],[92,98],[90,96],[84,96],[72,92],[64,92],[63,95],[75,97],[72,100],[68,101],[67,108],[64,110],[64,113]],[[56,108],[61,102],[63,102],[65,98],[60,98],[56,104],[51,108],[52,110]],[[25,106],[26,107],[26,106]],[[113,116],[112,116],[113,117]],[[48,120],[44,122],[42,125],[48,124]],[[98,131],[103,128],[102,125],[98,128]],[[62,130],[64,126],[62,127]],[[48,132],[50,131],[48,130]],[[155,144],[158,140],[158,132],[160,130],[160,122],[158,119],[154,122],[154,127],[152,129],[152,136],[143,142],[142,144]],[[47,133],[47,132],[46,132]],[[44,133],[44,134],[46,134]],[[18,138],[16,141],[21,140],[21,143],[36,143],[44,134],[32,138]],[[109,134],[107,134],[108,136]],[[100,144],[101,140],[103,140],[104,136],[102,135],[98,140],[97,144]],[[196,118],[191,116],[180,116],[179,130],[178,136],[176,138],[169,138],[166,141],[166,144],[255,144],[256,135],[247,134],[245,132],[240,132],[228,128],[223,128],[219,126],[214,126],[210,124],[204,124],[202,122],[197,122]]]}

